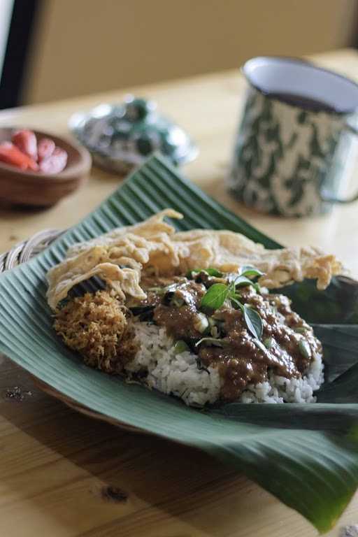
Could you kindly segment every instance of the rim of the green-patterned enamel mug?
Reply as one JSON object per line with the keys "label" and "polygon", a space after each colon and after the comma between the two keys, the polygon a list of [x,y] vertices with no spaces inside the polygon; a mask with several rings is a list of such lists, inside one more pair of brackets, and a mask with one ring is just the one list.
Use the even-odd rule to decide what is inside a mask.
{"label": "rim of the green-patterned enamel mug", "polygon": [[[352,86],[355,87],[355,89],[357,90],[357,94],[358,94],[358,83],[355,82],[355,80],[352,80],[352,78],[345,76],[341,73],[337,73],[336,71],[331,71],[331,69],[326,69],[325,67],[321,67],[315,64],[314,62],[311,62],[308,59],[303,59],[300,57],[293,57],[293,56],[253,56],[253,57],[250,57],[241,66],[240,71],[241,73],[243,73],[243,76],[245,76],[245,79],[248,80],[248,83],[250,84],[250,86],[254,87],[255,90],[257,90],[259,93],[261,93],[262,95],[264,95],[267,99],[270,99],[271,101],[277,101],[278,103],[285,104],[286,106],[299,108],[299,110],[306,110],[305,108],[303,108],[303,106],[299,106],[299,104],[287,103],[286,101],[279,99],[277,96],[271,95],[270,92],[265,92],[262,89],[262,87],[259,87],[259,85],[253,82],[252,78],[250,77],[250,74],[248,73],[248,64],[252,63],[255,60],[260,60],[260,59],[264,61],[268,61],[268,62],[275,60],[276,62],[279,62],[279,63],[302,64],[308,67],[309,69],[313,69],[313,71],[321,71],[323,73],[329,73],[329,75],[332,75],[336,78],[340,78],[341,80],[345,80],[345,82],[350,83]],[[353,108],[348,108],[347,110],[338,110],[334,106],[330,106],[329,109],[322,107],[322,108],[317,108],[317,110],[306,110],[306,111],[310,113],[324,112],[330,115],[344,116],[344,115],[352,114],[357,110],[358,110],[358,104],[357,106]]]}

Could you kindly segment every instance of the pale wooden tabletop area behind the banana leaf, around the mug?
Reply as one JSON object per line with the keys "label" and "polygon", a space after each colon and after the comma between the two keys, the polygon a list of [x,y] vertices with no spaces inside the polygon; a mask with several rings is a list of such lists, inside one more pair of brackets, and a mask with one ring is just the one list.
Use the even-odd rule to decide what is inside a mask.
{"label": "pale wooden tabletop area behind the banana leaf, around the mug", "polygon": [[[342,50],[313,57],[322,66],[336,69],[358,80],[357,52]],[[234,210],[266,234],[284,244],[302,245],[309,241],[338,255],[358,275],[357,203],[340,206],[332,215],[302,220],[259,215],[239,205],[227,193],[224,180],[228,173],[231,147],[243,103],[245,83],[238,71],[225,71],[170,83],[131,88],[137,95],[157,100],[159,109],[187,129],[199,144],[199,157],[184,167],[183,172],[206,192]],[[29,127],[68,134],[67,122],[72,113],[103,101],[120,101],[124,92],[110,92],[71,99],[42,106],[29,106],[0,113],[0,125],[27,124]],[[352,170],[352,183],[357,186],[358,173]],[[85,189],[48,210],[24,211],[0,208],[0,251],[9,250],[17,241],[45,228],[63,228],[76,224],[101,199],[108,196],[120,178],[93,169]]]}

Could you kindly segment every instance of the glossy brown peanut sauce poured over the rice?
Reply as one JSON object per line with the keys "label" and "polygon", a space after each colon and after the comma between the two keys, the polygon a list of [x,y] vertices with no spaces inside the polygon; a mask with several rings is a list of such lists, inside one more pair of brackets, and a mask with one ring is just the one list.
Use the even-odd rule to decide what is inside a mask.
{"label": "glossy brown peanut sauce poured over the rice", "polygon": [[[156,282],[164,285],[163,280]],[[206,292],[203,283],[196,283],[184,277],[166,281],[167,288],[176,284],[176,297],[182,298],[181,306],[165,303],[157,294],[148,292],[146,301],[152,304],[153,320],[165,327],[175,340],[185,341],[198,355],[198,362],[204,368],[217,368],[222,378],[221,399],[234,401],[248,385],[264,382],[268,373],[285,378],[299,378],[313,359],[322,353],[322,345],[315,338],[313,330],[296,313],[292,312],[287,296],[281,294],[257,294],[253,287],[241,287],[241,302],[248,303],[257,310],[262,318],[263,336],[266,350],[255,344],[255,338],[248,331],[241,310],[234,309],[229,303],[213,313],[220,323],[220,345],[201,345],[195,343],[203,337],[196,324],[201,298]],[[144,286],[143,286],[144,287]],[[147,289],[153,287],[145,282]],[[299,329],[299,331],[295,331]],[[269,344],[267,343],[269,341]],[[306,352],[302,351],[300,341],[305,342]]]}

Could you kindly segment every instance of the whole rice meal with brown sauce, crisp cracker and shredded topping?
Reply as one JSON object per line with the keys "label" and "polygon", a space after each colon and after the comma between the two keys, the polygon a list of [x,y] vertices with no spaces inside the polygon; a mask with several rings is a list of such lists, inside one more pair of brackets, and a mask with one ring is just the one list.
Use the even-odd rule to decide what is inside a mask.
{"label": "whole rice meal with brown sauce, crisp cracker and shredded topping", "polygon": [[[178,232],[164,217],[180,219],[182,215],[166,209],[144,222],[72,245],[63,261],[50,269],[47,298],[55,312],[55,330],[64,343],[92,367],[174,394],[189,405],[201,406],[219,399],[245,403],[315,401],[313,392],[323,380],[320,342],[296,313],[290,308],[287,315],[277,313],[280,306],[271,308],[270,299],[260,297],[260,292],[248,296],[244,304],[231,296],[231,309],[235,309],[235,302],[242,309],[236,308],[236,313],[225,313],[221,318],[219,312],[216,319],[216,313],[208,314],[201,303],[213,282],[189,283],[191,289],[196,286],[194,291],[171,290],[169,294],[175,298],[169,305],[158,295],[162,302],[155,302],[155,316],[149,323],[148,317],[134,310],[138,306],[148,308],[152,293],[151,286],[145,284],[148,279],[168,279],[168,284],[152,283],[159,285],[157,289],[162,292],[167,285],[172,287],[174,283],[176,287],[178,280],[186,278],[184,275],[194,268],[232,275],[240,274],[248,265],[254,266],[259,269],[255,285],[267,292],[304,278],[315,279],[317,288],[324,289],[333,275],[344,272],[341,263],[334,255],[307,246],[266,250],[233,231]],[[93,277],[102,280],[106,291],[69,299],[73,287]],[[219,277],[217,282],[220,281],[225,289],[229,287],[229,279]],[[240,293],[243,295],[241,290]],[[241,300],[240,294],[238,297]],[[67,302],[60,307],[63,301]],[[261,311],[261,334],[266,339],[274,336],[272,350],[245,320],[252,313],[248,308],[259,315]],[[219,311],[220,306],[213,309]],[[301,324],[295,322],[295,315]],[[299,329],[309,332],[303,336]],[[176,348],[178,343],[186,346],[181,352]],[[208,351],[210,345],[214,348]],[[218,350],[222,345],[224,349]],[[280,349],[282,354],[278,357]],[[304,358],[300,367],[296,364],[299,352]],[[271,360],[270,365],[265,365],[265,358]],[[292,371],[278,366],[278,361],[283,364],[285,360]],[[257,375],[252,374],[252,364]],[[234,387],[231,394],[228,378]]]}

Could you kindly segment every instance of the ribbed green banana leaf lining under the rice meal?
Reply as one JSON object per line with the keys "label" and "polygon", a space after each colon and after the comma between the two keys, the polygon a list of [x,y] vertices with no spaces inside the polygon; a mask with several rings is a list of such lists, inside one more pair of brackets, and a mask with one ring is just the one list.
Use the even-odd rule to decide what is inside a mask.
{"label": "ribbed green banana leaf lining under the rice meal", "polygon": [[[134,224],[166,207],[185,216],[176,222],[178,229],[231,229],[266,248],[279,246],[180,178],[163,159],[151,157],[94,213],[50,248],[0,276],[0,351],[77,408],[85,407],[88,413],[110,422],[199,447],[238,468],[287,506],[298,510],[320,531],[327,531],[338,520],[358,484],[355,324],[318,327],[323,342],[327,341],[330,363],[334,364],[337,357],[339,374],[350,368],[333,383],[329,382],[333,377],[327,378],[318,403],[232,403],[206,411],[188,408],[169,396],[88,368],[52,329],[45,299],[45,273],[63,259],[69,245],[99,236],[113,227]],[[321,292],[321,303],[335,303],[332,297],[343,296],[345,286],[355,289],[354,282],[337,280],[327,292]],[[306,303],[311,303],[309,282],[296,285],[290,292],[301,297],[301,306],[305,294]],[[348,291],[346,296],[354,294]],[[343,318],[338,306],[331,322]],[[328,310],[329,307],[323,307],[322,317],[315,320],[324,322]],[[355,320],[357,301],[351,298],[342,310],[345,321]]]}

